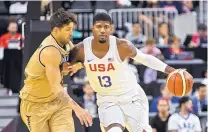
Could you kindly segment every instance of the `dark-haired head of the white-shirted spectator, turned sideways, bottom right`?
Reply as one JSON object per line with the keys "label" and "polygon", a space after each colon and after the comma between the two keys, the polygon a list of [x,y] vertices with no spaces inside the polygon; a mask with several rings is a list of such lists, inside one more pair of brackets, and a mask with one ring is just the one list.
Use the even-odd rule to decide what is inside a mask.
{"label": "dark-haired head of the white-shirted spectator, turned sideways, bottom right", "polygon": [[191,112],[192,106],[192,100],[188,96],[184,96],[179,100],[179,107],[181,111],[185,110],[187,112]]}

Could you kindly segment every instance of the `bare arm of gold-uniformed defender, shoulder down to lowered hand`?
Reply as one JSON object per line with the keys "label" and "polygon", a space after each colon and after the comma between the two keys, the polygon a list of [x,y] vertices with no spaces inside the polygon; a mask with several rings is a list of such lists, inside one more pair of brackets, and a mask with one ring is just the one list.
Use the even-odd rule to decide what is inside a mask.
{"label": "bare arm of gold-uniformed defender, shoulder down to lowered hand", "polygon": [[57,97],[68,99],[68,104],[74,110],[82,125],[87,127],[92,125],[92,117],[82,109],[61,86],[61,72],[59,65],[61,63],[61,54],[55,47],[45,48],[40,55],[41,62],[46,68],[46,75],[51,86],[51,90]]}

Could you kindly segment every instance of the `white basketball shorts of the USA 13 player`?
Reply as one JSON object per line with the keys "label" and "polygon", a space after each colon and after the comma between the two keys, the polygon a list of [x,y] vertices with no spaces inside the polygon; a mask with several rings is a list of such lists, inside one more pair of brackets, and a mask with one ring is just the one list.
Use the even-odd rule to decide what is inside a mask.
{"label": "white basketball shorts of the USA 13 player", "polygon": [[118,123],[129,132],[152,132],[149,125],[149,105],[143,89],[119,96],[97,94],[98,113],[103,127]]}

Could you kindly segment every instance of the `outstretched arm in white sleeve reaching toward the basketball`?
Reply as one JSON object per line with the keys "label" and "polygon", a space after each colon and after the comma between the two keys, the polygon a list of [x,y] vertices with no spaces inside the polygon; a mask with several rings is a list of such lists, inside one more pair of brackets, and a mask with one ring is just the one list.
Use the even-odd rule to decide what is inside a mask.
{"label": "outstretched arm in white sleeve reaching toward the basketball", "polygon": [[175,69],[168,66],[156,57],[142,53],[130,41],[120,40],[121,48],[125,51],[126,57],[130,57],[141,64],[148,66],[152,69],[165,72],[167,74],[173,72]]}

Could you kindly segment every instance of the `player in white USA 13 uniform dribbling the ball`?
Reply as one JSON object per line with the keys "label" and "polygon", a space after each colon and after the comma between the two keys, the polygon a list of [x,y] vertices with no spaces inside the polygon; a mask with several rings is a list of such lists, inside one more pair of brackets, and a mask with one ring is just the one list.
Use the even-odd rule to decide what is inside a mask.
{"label": "player in white USA 13 uniform dribbling the ball", "polygon": [[129,132],[152,132],[148,99],[125,60],[132,58],[165,73],[175,69],[143,54],[130,41],[111,36],[112,21],[106,13],[94,16],[92,31],[93,36],[71,50],[69,62],[84,64],[90,85],[97,92],[101,125],[106,132],[122,132],[125,127]]}

